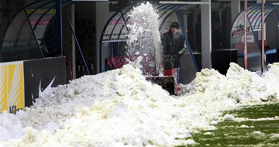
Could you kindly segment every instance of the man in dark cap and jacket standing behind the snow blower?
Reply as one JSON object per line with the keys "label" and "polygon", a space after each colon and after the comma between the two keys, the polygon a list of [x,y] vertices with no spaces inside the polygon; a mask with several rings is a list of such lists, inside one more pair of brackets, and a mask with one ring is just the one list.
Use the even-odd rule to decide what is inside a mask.
{"label": "man in dark cap and jacket standing behind the snow blower", "polygon": [[161,36],[164,57],[172,56],[174,59],[174,68],[177,68],[177,84],[179,83],[180,57],[187,49],[185,37],[181,32],[178,32],[178,29],[179,24],[174,21],[170,24],[169,30]]}

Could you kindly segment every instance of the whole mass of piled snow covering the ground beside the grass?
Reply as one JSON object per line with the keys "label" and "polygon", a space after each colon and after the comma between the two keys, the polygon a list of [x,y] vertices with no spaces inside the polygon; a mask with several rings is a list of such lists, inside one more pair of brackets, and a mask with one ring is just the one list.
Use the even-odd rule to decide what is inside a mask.
{"label": "whole mass of piled snow covering the ground beside the grass", "polygon": [[[153,38],[158,43],[159,39]],[[139,62],[134,64],[140,67],[136,66]],[[193,140],[179,139],[201,130],[214,130],[218,122],[235,119],[231,115],[221,117],[221,111],[240,105],[279,102],[279,63],[270,64],[269,71],[261,76],[235,63],[230,64],[226,76],[214,69],[202,69],[190,84],[180,84],[179,88],[178,96],[169,95],[160,86],[146,81],[141,70],[131,64],[83,76],[67,85],[50,88],[31,108],[24,108],[15,115],[2,112],[0,146],[195,144]]]}

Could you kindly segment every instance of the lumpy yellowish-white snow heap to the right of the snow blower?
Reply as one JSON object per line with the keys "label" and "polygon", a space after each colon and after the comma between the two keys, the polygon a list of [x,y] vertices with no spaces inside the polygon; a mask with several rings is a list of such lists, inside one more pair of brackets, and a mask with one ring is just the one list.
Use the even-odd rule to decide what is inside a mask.
{"label": "lumpy yellowish-white snow heap to the right of the snow blower", "polygon": [[277,88],[279,63],[264,73],[263,77],[256,72],[244,70],[236,63],[230,63],[226,76],[214,69],[202,69],[188,85],[181,85],[178,93],[183,95],[207,95],[212,100],[234,100],[233,103],[278,101]]}

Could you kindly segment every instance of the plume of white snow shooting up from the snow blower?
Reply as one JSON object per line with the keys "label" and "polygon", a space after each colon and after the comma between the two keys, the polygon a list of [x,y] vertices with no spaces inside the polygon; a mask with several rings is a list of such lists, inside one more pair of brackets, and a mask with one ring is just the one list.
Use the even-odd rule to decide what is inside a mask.
{"label": "plume of white snow shooting up from the snow blower", "polygon": [[[133,7],[129,24],[128,54],[146,55],[155,57],[156,71],[162,73],[162,50],[159,32],[159,15],[157,10],[147,1]],[[154,65],[153,65],[154,66]]]}

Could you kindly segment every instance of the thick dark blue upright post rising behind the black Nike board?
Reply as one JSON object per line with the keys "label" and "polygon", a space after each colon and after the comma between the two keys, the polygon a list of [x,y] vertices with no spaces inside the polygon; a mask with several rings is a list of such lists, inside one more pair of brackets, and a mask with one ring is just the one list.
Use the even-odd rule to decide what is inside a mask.
{"label": "thick dark blue upright post rising behind the black Nike board", "polygon": [[62,16],[61,16],[61,0],[55,0],[56,23],[57,23],[57,47],[58,54],[62,55]]}

